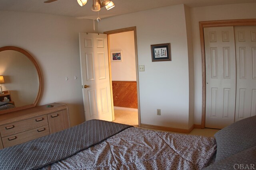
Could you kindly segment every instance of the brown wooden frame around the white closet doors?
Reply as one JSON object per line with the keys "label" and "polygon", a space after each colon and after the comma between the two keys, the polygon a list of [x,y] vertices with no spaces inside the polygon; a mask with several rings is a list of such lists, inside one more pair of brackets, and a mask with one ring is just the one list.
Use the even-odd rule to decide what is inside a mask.
{"label": "brown wooden frame around the white closet doors", "polygon": [[217,20],[217,21],[200,21],[200,43],[202,55],[202,121],[201,128],[205,128],[205,113],[206,113],[206,66],[205,66],[205,51],[204,51],[204,28],[205,27],[226,27],[226,26],[246,26],[256,25],[256,19],[242,20]]}

